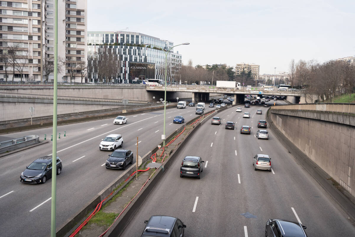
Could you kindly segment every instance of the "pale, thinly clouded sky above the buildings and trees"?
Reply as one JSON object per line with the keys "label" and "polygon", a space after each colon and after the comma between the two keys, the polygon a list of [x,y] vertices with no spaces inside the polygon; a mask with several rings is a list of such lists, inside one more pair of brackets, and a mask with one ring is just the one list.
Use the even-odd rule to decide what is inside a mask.
{"label": "pale, thinly clouded sky above the buildings and trees", "polygon": [[[174,42],[193,65],[255,63],[288,72],[291,59],[355,56],[354,0],[87,0],[88,31],[131,31]],[[129,29],[126,29],[126,28]]]}

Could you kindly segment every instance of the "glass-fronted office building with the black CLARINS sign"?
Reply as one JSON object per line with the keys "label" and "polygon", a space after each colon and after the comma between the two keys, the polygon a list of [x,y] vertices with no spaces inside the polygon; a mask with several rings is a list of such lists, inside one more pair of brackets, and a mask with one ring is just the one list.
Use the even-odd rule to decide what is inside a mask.
{"label": "glass-fronted office building with the black CLARINS sign", "polygon": [[[99,52],[103,50],[115,55],[119,66],[115,76],[109,79],[114,83],[132,83],[139,78],[164,80],[165,52],[154,45],[164,50],[174,46],[171,41],[127,31],[88,31],[87,42],[89,57],[97,58]],[[152,45],[147,47],[144,44]],[[167,63],[168,81],[179,81],[181,68],[179,51],[170,50]],[[88,82],[107,81],[100,76],[99,64],[97,62],[94,64],[88,67]]]}

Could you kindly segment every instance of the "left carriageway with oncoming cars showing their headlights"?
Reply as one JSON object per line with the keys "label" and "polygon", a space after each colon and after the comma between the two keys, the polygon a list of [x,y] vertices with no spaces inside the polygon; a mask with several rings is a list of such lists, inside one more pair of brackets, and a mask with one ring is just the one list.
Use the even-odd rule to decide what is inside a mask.
{"label": "left carriageway with oncoming cars showing their headlights", "polygon": [[[206,108],[206,112],[212,108]],[[166,134],[185,124],[173,124],[176,115],[185,121],[199,117],[196,107],[166,110]],[[124,125],[114,125],[114,118],[58,126],[61,139],[57,142],[57,155],[63,169],[57,178],[57,226],[61,226],[83,205],[122,174],[121,170],[106,169],[104,163],[109,151],[100,151],[101,139],[109,134],[121,134],[123,149],[143,156],[161,141],[163,110],[128,116]],[[66,137],[64,138],[64,131]],[[17,138],[28,134],[44,134],[50,140],[52,128],[6,134]],[[56,136],[54,136],[56,137]],[[57,135],[58,138],[58,135]],[[50,155],[52,143],[15,153],[0,159],[0,236],[49,236],[51,179],[45,184],[20,183],[21,172],[35,159]],[[135,164],[133,164],[135,165]]]}

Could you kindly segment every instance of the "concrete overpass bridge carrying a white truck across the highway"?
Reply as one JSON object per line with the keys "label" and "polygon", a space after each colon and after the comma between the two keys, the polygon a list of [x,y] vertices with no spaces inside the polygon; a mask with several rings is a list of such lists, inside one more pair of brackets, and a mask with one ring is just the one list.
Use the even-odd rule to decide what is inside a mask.
{"label": "concrete overpass bridge carrying a white truck across the highway", "polygon": [[[191,92],[192,102],[208,101],[210,93],[234,95],[234,102],[241,103],[244,101],[244,95],[270,95],[270,96],[293,96],[295,103],[304,102],[301,97],[305,97],[305,93],[301,91],[266,91],[266,88],[253,87],[252,90],[239,90],[237,88],[221,88],[216,86],[201,85],[167,85],[166,92]],[[147,91],[164,91],[162,86],[146,86]]]}

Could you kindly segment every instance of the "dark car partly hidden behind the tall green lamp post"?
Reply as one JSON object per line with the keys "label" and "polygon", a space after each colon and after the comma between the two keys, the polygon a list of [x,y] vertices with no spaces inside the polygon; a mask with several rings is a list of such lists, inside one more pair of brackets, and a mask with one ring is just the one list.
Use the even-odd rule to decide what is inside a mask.
{"label": "dark car partly hidden behind the tall green lamp post", "polygon": [[[56,159],[57,175],[62,171],[62,161],[57,156]],[[22,183],[45,183],[52,177],[52,156],[43,156],[33,161],[31,165],[21,173]]]}

